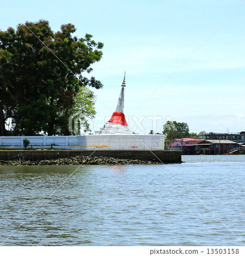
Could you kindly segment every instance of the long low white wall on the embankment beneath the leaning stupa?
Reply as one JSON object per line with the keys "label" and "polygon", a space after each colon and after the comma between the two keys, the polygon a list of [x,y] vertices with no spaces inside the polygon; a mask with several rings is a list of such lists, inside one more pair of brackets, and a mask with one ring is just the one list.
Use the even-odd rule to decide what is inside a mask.
{"label": "long low white wall on the embankment beneath the leaning stupa", "polygon": [[96,134],[77,136],[2,136],[0,148],[65,148],[71,150],[163,150],[164,135]]}

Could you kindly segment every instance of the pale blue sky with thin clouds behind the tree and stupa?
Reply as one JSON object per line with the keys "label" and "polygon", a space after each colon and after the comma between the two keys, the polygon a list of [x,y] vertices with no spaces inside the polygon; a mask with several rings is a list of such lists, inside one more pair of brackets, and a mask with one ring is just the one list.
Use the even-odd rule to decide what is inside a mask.
{"label": "pale blue sky with thin clouds behind the tree and stupa", "polygon": [[[6,7],[6,6],[7,7]],[[72,23],[104,44],[93,75],[103,84],[92,132],[117,106],[126,72],[124,114],[133,132],[162,131],[166,121],[189,132],[245,131],[245,1],[0,0],[0,29],[48,20]]]}

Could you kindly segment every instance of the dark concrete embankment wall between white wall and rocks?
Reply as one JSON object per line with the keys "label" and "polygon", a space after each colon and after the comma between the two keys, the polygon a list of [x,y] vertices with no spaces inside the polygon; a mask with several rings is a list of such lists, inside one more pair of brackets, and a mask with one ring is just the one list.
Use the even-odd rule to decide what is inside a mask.
{"label": "dark concrete embankment wall between white wall and rocks", "polygon": [[181,151],[134,151],[134,150],[2,150],[0,160],[21,160],[21,161],[40,161],[69,158],[77,156],[93,157],[112,157],[118,159],[131,160],[154,160],[162,163],[181,163]]}

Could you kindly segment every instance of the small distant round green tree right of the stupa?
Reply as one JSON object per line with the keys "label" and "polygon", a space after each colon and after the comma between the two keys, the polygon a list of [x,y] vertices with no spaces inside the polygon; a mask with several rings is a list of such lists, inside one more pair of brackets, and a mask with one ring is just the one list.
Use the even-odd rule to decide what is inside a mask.
{"label": "small distant round green tree right of the stupa", "polygon": [[189,137],[189,127],[187,123],[167,121],[163,126],[163,134],[167,135],[166,140],[181,139]]}

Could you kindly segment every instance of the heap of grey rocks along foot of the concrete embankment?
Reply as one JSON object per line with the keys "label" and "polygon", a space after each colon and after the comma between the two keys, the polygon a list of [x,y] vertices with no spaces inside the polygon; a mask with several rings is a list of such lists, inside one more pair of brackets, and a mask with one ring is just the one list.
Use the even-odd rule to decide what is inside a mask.
{"label": "heap of grey rocks along foot of the concrete embankment", "polygon": [[30,160],[12,160],[12,161],[3,161],[0,160],[0,165],[122,165],[122,164],[161,164],[156,160],[132,160],[132,159],[119,159],[113,157],[68,157],[68,158],[59,158],[51,160],[39,160],[39,161],[30,161]]}

